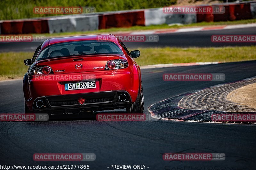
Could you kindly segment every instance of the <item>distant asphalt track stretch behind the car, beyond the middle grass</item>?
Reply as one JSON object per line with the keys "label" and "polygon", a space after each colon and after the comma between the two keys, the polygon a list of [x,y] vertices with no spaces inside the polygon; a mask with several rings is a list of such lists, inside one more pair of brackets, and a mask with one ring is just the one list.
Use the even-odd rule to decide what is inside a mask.
{"label": "distant asphalt track stretch behind the car, beyond the middle grass", "polygon": [[[227,29],[227,30],[213,30],[213,31],[197,31],[197,32],[180,32],[159,34],[158,42],[124,42],[127,48],[137,47],[222,47],[222,46],[250,46],[255,43],[213,43],[211,41],[212,35],[228,34],[228,35],[255,35],[256,28],[239,28],[239,29]],[[0,43],[0,52],[9,51],[32,51],[36,50],[36,47],[42,44],[42,42],[10,42]]]}

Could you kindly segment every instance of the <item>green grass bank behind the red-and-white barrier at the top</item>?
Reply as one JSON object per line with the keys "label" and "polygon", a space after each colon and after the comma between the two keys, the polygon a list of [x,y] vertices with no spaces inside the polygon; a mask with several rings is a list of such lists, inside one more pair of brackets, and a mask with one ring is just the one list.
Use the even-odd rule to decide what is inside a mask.
{"label": "green grass bank behind the red-and-white barrier at the top", "polygon": [[176,0],[1,0],[0,20],[54,16],[35,14],[36,6],[95,7],[96,12],[157,8],[176,4]]}

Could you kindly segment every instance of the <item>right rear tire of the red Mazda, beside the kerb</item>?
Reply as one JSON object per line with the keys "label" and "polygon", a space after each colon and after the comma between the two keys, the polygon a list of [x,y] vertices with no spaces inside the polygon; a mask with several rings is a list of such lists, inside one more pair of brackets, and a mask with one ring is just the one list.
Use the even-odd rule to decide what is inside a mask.
{"label": "right rear tire of the red Mazda, beside the kerb", "polygon": [[144,96],[143,96],[143,88],[141,86],[141,90],[137,95],[136,101],[132,103],[132,105],[126,107],[127,113],[143,113],[144,110]]}

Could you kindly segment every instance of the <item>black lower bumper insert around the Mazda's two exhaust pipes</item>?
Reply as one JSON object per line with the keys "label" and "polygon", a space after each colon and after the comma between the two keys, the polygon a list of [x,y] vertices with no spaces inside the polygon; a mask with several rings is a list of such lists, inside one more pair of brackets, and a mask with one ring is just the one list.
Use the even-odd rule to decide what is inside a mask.
{"label": "black lower bumper insert around the Mazda's two exhaust pipes", "polygon": [[[125,94],[127,98],[124,101],[119,99],[121,94]],[[78,103],[78,98],[85,99],[84,104]],[[42,101],[44,104],[38,107],[37,101]],[[127,91],[104,91],[95,93],[82,93],[71,95],[54,95],[38,97],[33,102],[33,110],[47,111],[47,110],[83,110],[83,109],[116,109],[124,108],[132,103],[132,98]]]}

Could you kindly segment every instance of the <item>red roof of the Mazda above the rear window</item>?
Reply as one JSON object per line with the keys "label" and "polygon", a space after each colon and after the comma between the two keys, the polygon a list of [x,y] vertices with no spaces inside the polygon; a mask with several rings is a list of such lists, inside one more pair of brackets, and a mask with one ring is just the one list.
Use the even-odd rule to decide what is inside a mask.
{"label": "red roof of the Mazda above the rear window", "polygon": [[117,45],[119,45],[118,39],[113,34],[81,35],[81,36],[46,39],[42,44],[41,50],[44,49],[46,46],[56,44],[56,43],[72,42],[72,41],[86,41],[86,40],[107,40],[107,41],[115,42]]}

